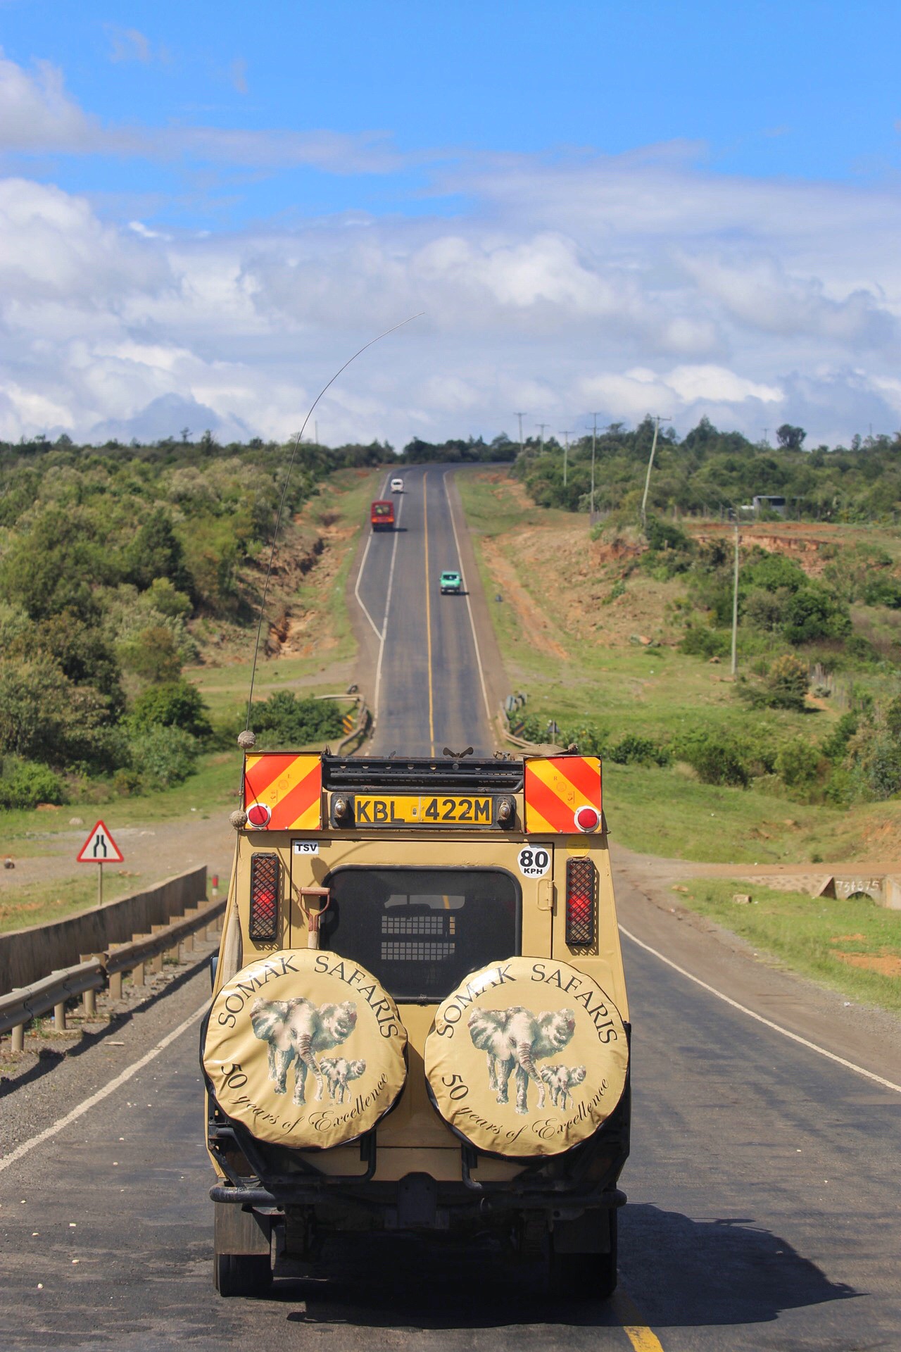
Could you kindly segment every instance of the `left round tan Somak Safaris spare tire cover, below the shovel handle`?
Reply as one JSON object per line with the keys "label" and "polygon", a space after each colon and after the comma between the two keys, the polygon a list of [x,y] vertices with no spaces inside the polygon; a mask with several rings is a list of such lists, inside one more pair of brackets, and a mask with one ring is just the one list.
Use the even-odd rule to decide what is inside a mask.
{"label": "left round tan Somak Safaris spare tire cover, below the shovel handle", "polygon": [[217,992],[203,1063],[223,1111],[261,1141],[342,1145],[396,1103],[407,1030],[374,976],[326,949],[270,953]]}

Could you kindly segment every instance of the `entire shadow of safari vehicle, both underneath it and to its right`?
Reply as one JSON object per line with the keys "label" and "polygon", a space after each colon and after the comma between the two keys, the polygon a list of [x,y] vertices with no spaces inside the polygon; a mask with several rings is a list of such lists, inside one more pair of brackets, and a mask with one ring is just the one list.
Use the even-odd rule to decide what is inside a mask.
{"label": "entire shadow of safari vehicle, both underneath it and to its right", "polygon": [[[751,1220],[693,1221],[647,1205],[620,1217],[620,1288],[657,1329],[769,1324],[785,1310],[862,1294],[829,1282]],[[539,1264],[516,1264],[490,1240],[343,1236],[340,1247],[326,1247],[315,1276],[277,1276],[272,1298],[303,1305],[290,1324],[359,1329],[620,1324],[590,1293],[548,1298]]]}

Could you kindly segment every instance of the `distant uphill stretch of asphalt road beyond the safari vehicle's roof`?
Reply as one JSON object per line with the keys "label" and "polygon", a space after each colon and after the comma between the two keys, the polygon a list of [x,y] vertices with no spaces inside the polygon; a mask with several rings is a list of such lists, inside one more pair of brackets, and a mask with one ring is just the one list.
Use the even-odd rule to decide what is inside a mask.
{"label": "distant uphill stretch of asphalt road beyond the safari vehicle's roof", "polygon": [[[478,579],[463,569],[462,516],[451,514],[443,466],[404,466],[404,492],[392,495],[394,531],[373,531],[361,562],[357,600],[378,645],[370,754],[435,756],[444,746],[490,756],[488,696],[466,592]],[[388,483],[388,480],[386,480]],[[463,576],[463,594],[442,596],[443,569]]]}

